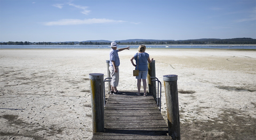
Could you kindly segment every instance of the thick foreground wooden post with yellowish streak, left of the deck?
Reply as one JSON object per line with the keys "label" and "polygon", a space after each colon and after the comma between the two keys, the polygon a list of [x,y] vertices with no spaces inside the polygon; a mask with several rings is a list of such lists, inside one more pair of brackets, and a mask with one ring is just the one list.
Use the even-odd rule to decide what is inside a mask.
{"label": "thick foreground wooden post with yellowish streak, left of the deck", "polygon": [[92,132],[104,132],[104,74],[89,74],[92,100]]}

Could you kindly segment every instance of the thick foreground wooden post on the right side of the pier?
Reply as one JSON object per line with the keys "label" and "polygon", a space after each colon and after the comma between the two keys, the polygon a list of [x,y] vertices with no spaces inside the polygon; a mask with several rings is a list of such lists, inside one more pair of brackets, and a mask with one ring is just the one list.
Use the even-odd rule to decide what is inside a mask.
{"label": "thick foreground wooden post on the right side of the pier", "polygon": [[164,75],[164,89],[168,118],[168,133],[172,139],[180,140],[180,113],[178,101],[178,75]]}

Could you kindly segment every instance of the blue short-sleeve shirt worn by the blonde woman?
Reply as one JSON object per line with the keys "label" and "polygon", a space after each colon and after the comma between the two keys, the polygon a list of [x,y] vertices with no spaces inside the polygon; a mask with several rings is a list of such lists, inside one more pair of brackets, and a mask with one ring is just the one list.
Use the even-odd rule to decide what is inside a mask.
{"label": "blue short-sleeve shirt worn by the blonde woman", "polygon": [[[138,55],[139,55],[139,61],[138,61]],[[134,59],[136,61],[136,69],[138,67],[138,62],[139,62],[139,71],[148,71],[148,53],[136,53],[134,55]]]}

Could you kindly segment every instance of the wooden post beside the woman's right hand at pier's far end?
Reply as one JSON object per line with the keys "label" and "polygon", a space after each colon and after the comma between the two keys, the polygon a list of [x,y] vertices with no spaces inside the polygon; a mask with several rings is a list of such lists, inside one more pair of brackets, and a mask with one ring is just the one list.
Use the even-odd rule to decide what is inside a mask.
{"label": "wooden post beside the woman's right hand at pier's far end", "polygon": [[148,63],[148,93],[152,93],[155,101],[157,101],[156,95],[156,81],[152,81],[154,79],[150,79],[150,77],[156,77],[156,67],[155,67],[155,60],[151,63]]}

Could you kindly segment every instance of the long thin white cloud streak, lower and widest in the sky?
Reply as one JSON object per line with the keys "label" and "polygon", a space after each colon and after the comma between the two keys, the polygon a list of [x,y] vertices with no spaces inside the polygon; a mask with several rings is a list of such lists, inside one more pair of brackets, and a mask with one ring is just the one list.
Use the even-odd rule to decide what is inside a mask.
{"label": "long thin white cloud streak, lower and widest in the sky", "polygon": [[46,26],[53,25],[80,25],[80,24],[102,24],[102,23],[122,23],[126,21],[112,20],[106,18],[90,18],[90,19],[61,19],[58,21],[50,21],[43,23]]}

